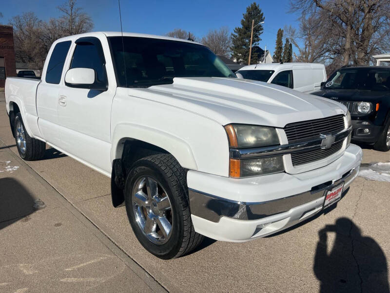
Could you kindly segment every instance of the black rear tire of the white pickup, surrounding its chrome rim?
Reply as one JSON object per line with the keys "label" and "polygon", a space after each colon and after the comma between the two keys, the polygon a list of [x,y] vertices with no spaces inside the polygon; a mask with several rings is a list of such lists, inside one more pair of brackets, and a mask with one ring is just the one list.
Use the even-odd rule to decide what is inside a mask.
{"label": "black rear tire of the white pickup, surrounding its chrome rim", "polygon": [[[21,145],[18,143],[18,129],[17,126],[20,123],[22,126],[24,140],[25,140],[25,149],[21,149]],[[16,146],[18,147],[20,157],[25,161],[35,161],[42,159],[46,150],[46,143],[32,138],[28,133],[26,128],[24,127],[23,120],[21,119],[20,112],[15,115],[15,123],[14,123],[14,136]],[[24,148],[24,145],[22,146]]]}

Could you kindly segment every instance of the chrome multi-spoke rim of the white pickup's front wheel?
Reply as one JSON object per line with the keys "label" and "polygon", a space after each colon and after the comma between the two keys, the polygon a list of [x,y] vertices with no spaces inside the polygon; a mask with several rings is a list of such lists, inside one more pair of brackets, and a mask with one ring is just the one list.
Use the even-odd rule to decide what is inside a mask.
{"label": "chrome multi-spoke rim of the white pickup's front wheel", "polygon": [[132,192],[133,210],[143,234],[155,244],[164,244],[172,234],[172,207],[166,191],[150,176],[140,177]]}

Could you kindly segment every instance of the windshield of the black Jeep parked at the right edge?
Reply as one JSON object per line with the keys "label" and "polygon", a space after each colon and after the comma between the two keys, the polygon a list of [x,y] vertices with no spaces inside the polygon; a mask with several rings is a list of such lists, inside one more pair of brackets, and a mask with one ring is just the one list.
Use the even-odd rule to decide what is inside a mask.
{"label": "windshield of the black Jeep parked at the right edge", "polygon": [[390,69],[344,68],[334,72],[324,86],[326,89],[390,90]]}

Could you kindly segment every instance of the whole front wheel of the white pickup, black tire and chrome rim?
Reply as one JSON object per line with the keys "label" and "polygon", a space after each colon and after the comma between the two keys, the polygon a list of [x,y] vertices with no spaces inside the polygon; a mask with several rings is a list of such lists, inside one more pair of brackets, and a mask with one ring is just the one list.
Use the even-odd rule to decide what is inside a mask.
{"label": "whole front wheel of the white pickup, black tire and chrome rim", "polygon": [[203,240],[191,221],[186,171],[170,154],[148,156],[133,165],[125,204],[138,241],[159,258],[179,257]]}

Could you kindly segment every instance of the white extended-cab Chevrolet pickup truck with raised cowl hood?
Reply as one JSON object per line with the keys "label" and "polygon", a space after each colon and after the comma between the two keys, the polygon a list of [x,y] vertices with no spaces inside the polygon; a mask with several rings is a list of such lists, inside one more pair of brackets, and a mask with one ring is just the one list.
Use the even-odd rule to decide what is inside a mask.
{"label": "white extended-cab Chevrolet pickup truck with raised cowl hood", "polygon": [[337,202],[362,159],[347,108],[238,79],[207,47],[96,32],[54,42],[40,80],[7,78],[20,156],[45,144],[111,177],[146,250],[242,242]]}

